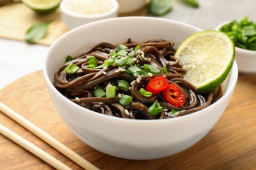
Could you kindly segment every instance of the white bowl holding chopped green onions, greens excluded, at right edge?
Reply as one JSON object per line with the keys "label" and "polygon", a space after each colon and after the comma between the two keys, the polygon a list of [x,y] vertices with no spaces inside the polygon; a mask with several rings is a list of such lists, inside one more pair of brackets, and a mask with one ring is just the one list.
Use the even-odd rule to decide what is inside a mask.
{"label": "white bowl holding chopped green onions, greens excluded, at right edge", "polygon": [[[215,28],[221,29],[223,25],[230,23],[231,21],[223,22]],[[238,63],[239,73],[256,73],[256,51],[245,50],[243,48],[236,47],[236,62]]]}

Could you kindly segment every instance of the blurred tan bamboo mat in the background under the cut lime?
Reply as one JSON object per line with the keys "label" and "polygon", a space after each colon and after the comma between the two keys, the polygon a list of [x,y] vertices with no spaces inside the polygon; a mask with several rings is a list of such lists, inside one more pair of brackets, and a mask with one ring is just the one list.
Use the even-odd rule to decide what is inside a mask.
{"label": "blurred tan bamboo mat in the background under the cut lime", "polygon": [[[147,9],[144,7],[122,16],[146,16]],[[36,14],[22,3],[12,3],[0,7],[0,37],[25,41],[26,30],[34,24],[52,21],[49,25],[47,35],[39,40],[38,44],[51,45],[58,37],[68,32],[69,29],[62,23],[60,10],[57,9],[50,14]]]}

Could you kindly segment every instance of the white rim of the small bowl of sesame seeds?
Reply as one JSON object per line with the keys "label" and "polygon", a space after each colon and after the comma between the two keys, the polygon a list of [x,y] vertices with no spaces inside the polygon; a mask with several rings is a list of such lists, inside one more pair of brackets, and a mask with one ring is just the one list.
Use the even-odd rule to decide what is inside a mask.
{"label": "white rim of the small bowl of sesame seeds", "polygon": [[108,12],[104,12],[102,14],[93,14],[93,15],[89,15],[89,14],[79,14],[76,12],[72,12],[71,10],[67,9],[65,6],[65,3],[68,0],[62,0],[62,2],[60,3],[60,10],[62,10],[62,12],[70,15],[70,16],[74,16],[77,18],[82,18],[82,19],[86,19],[86,18],[102,18],[105,16],[110,16],[112,14],[114,14],[115,12],[117,12],[117,10],[119,9],[119,4],[117,3],[116,0],[110,0],[110,2],[114,5],[114,7],[108,11]]}

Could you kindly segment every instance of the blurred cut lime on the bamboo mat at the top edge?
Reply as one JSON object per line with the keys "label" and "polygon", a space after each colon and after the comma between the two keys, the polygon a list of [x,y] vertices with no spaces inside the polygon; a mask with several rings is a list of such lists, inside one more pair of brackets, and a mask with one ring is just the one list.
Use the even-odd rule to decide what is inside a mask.
{"label": "blurred cut lime on the bamboo mat at the top edge", "polygon": [[49,13],[57,9],[61,0],[22,0],[22,3],[38,13]]}

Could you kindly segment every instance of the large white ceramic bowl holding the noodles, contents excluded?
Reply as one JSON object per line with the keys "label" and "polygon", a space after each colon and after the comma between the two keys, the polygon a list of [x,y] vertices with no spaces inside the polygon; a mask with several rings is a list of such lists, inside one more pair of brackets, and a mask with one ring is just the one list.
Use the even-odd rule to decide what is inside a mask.
{"label": "large white ceramic bowl holding the noodles, contents excluded", "polygon": [[236,63],[225,82],[221,99],[198,112],[164,120],[130,120],[99,114],[64,97],[54,88],[52,80],[67,55],[79,54],[98,42],[119,44],[128,38],[135,42],[166,39],[175,42],[177,47],[198,31],[202,30],[173,20],[128,17],[93,22],[66,33],[49,48],[44,65],[45,80],[58,113],[81,141],[119,158],[163,158],[192,146],[223,114],[238,78]]}

